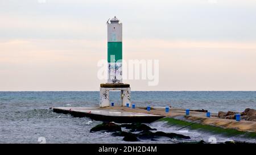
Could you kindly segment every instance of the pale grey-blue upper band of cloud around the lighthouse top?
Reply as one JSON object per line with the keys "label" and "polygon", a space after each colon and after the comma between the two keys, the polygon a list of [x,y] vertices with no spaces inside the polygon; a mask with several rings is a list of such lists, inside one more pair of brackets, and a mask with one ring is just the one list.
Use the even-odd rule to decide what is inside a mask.
{"label": "pale grey-blue upper band of cloud around the lighthouse top", "polygon": [[2,2],[0,39],[102,39],[117,15],[129,39],[256,40],[255,1],[15,2]]}

